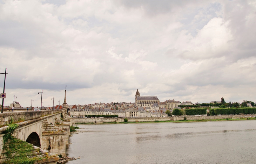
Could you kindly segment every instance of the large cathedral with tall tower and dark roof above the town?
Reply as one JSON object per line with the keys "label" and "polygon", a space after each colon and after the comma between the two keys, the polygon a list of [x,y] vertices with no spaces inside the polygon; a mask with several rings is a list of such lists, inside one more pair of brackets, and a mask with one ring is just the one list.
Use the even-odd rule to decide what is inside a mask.
{"label": "large cathedral with tall tower and dark roof above the town", "polygon": [[150,107],[154,103],[159,103],[159,99],[156,96],[140,96],[140,92],[137,90],[135,94],[135,104],[137,107]]}

